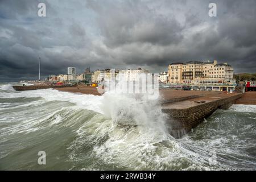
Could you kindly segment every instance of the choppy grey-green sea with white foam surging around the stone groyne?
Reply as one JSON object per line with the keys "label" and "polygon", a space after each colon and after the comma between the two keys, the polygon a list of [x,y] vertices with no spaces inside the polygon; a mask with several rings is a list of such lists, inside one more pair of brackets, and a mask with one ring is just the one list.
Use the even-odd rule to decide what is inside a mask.
{"label": "choppy grey-green sea with white foam surging around the stone groyne", "polygon": [[[255,170],[256,106],[217,110],[175,139],[156,102],[0,88],[0,169]],[[46,152],[46,165],[38,152]]]}

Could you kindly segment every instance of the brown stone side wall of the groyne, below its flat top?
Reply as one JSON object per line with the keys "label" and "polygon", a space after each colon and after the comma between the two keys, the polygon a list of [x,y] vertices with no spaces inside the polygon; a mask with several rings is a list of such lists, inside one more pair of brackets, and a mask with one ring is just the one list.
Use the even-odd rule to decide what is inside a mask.
{"label": "brown stone side wall of the groyne, below its flat top", "polygon": [[204,118],[207,118],[215,110],[228,109],[240,97],[242,97],[242,94],[205,102],[185,109],[162,109],[162,111],[170,117],[167,125],[171,135],[180,138],[191,131],[193,127],[199,125],[204,121]]}

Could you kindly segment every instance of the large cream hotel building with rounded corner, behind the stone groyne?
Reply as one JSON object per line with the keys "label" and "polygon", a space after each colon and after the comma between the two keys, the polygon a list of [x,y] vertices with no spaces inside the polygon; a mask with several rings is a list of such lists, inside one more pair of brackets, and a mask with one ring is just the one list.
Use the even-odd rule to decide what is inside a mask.
{"label": "large cream hotel building with rounded corner, behind the stone groyne", "polygon": [[[234,69],[227,63],[214,61],[189,61],[172,63],[168,67],[169,84],[179,85],[231,85],[236,84]],[[207,88],[205,86],[205,88]],[[214,89],[214,88],[212,88]],[[215,87],[216,90],[227,88]],[[232,89],[232,88],[230,88]]]}

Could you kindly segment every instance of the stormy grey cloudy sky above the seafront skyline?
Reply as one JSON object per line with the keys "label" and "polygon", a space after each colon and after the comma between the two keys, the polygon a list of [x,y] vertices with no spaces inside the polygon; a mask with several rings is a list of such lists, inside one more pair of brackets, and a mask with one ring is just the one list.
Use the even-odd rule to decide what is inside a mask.
{"label": "stormy grey cloudy sky above the seafront skyline", "polygon": [[[46,3],[46,17],[38,3]],[[217,4],[217,17],[208,15]],[[256,1],[0,0],[0,81],[76,67],[167,71],[176,61],[218,60],[256,72]]]}

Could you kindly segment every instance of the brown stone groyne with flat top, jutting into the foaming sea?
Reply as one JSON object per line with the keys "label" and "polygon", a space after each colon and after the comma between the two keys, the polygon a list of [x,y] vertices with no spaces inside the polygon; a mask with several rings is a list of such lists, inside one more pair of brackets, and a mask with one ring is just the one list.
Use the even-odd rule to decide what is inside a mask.
{"label": "brown stone groyne with flat top, jutting into the foaming sea", "polygon": [[243,94],[230,94],[228,97],[204,97],[196,101],[187,100],[163,105],[162,111],[170,117],[167,125],[170,126],[170,133],[175,138],[187,134],[193,127],[204,121],[217,109],[228,109]]}

